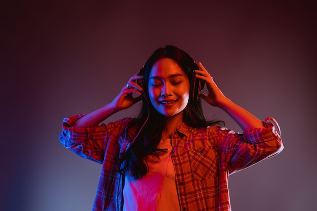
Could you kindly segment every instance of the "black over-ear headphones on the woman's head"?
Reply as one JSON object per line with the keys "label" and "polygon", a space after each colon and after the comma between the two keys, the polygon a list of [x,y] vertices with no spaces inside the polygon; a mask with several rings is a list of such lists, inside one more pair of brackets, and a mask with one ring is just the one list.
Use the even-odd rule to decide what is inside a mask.
{"label": "black over-ear headphones on the woman's head", "polygon": [[[139,75],[145,76],[145,66],[146,66],[146,62],[144,63],[143,67],[140,69]],[[191,94],[191,100],[193,102],[199,101],[199,98],[205,86],[204,80],[196,78],[195,70],[199,70],[199,66],[196,63],[193,63],[190,70],[192,72],[192,75],[191,75],[190,88],[189,88],[189,92]],[[138,84],[143,89],[143,93],[141,95],[142,101],[148,105],[148,99],[144,92],[145,79],[138,80]]]}

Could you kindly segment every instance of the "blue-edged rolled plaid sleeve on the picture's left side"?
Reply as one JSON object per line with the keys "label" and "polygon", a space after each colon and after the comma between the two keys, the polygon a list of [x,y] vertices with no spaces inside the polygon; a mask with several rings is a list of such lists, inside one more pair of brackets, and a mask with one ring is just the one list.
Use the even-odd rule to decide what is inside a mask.
{"label": "blue-edged rolled plaid sleeve on the picture's left side", "polygon": [[124,121],[110,122],[92,128],[73,127],[72,124],[85,114],[63,119],[59,141],[75,154],[102,163],[106,151],[114,149],[117,137],[125,128]]}

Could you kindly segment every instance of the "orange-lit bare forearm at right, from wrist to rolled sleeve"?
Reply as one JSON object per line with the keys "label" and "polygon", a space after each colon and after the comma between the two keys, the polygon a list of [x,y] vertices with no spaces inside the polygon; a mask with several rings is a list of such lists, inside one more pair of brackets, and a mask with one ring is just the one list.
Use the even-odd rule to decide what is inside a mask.
{"label": "orange-lit bare forearm at right, from wrist to rolled sleeve", "polygon": [[241,128],[263,128],[263,122],[246,109],[233,103],[230,99],[225,100],[218,105],[224,110]]}

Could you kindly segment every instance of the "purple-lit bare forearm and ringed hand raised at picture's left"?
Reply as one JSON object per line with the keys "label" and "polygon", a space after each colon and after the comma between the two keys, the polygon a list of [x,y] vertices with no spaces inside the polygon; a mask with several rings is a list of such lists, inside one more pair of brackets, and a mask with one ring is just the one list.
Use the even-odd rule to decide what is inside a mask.
{"label": "purple-lit bare forearm and ringed hand raised at picture's left", "polygon": [[[122,88],[121,92],[112,100],[111,103],[83,116],[74,122],[72,126],[89,128],[100,124],[103,120],[112,114],[129,108],[136,102],[141,100],[142,88],[137,84],[137,80],[142,79],[143,76],[135,74],[132,76],[127,85]],[[138,94],[138,97],[133,97],[133,93]]]}

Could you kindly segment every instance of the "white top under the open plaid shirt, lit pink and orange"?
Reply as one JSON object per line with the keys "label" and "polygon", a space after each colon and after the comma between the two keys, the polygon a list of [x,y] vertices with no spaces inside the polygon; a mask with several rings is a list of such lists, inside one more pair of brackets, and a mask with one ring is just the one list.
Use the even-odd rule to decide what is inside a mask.
{"label": "white top under the open plaid shirt, lit pink and orange", "polygon": [[178,211],[180,210],[174,165],[171,159],[171,139],[161,140],[157,148],[167,149],[160,155],[146,157],[149,171],[140,179],[125,177],[124,211]]}

